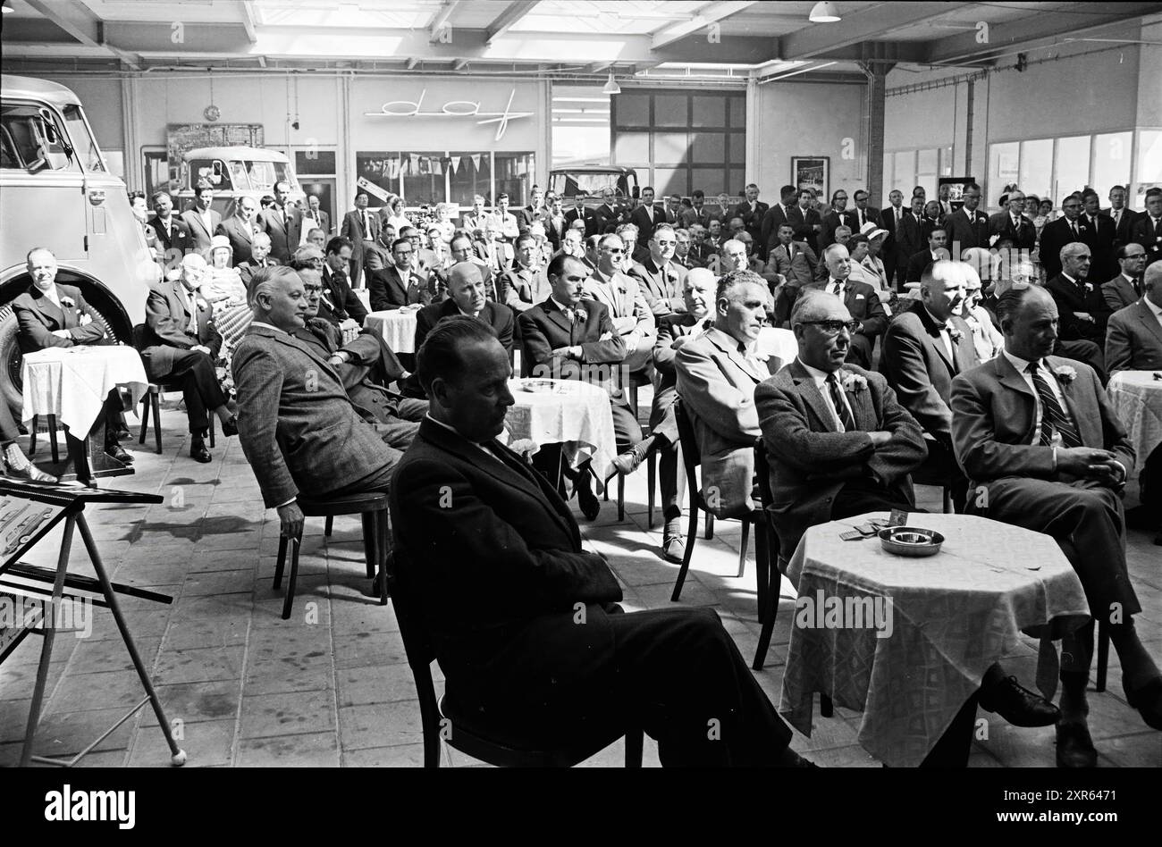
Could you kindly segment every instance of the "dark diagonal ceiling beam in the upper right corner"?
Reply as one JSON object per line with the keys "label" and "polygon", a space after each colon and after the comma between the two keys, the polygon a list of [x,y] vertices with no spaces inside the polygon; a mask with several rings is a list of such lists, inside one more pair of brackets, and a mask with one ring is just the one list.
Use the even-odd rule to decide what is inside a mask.
{"label": "dark diagonal ceiling beam in the upper right corner", "polygon": [[1068,3],[1053,14],[1035,14],[1003,24],[992,24],[989,27],[989,41],[984,44],[977,42],[978,34],[975,28],[930,42],[926,60],[928,64],[940,65],[985,57],[1037,41],[1088,33],[1160,10],[1162,3],[1157,2]]}

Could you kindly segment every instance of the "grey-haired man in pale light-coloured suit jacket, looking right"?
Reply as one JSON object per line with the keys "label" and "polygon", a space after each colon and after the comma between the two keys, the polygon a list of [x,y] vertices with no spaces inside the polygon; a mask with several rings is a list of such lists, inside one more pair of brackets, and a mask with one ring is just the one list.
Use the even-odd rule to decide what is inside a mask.
{"label": "grey-haired man in pale light-coloured suit jacket, looking right", "polygon": [[716,517],[755,508],[754,440],[759,416],[754,387],[786,363],[756,351],[766,323],[767,282],[751,271],[718,281],[715,324],[677,351],[677,394],[689,412],[702,459],[702,495]]}

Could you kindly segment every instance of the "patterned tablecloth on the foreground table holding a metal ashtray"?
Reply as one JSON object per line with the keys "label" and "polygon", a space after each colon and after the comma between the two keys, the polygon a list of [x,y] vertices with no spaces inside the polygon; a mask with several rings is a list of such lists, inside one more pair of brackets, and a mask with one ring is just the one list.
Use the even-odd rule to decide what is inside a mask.
{"label": "patterned tablecloth on the foreground table holding a metal ashtray", "polygon": [[[919,559],[887,553],[878,538],[839,537],[871,517],[887,515],[813,526],[795,551],[787,575],[798,600],[780,711],[810,735],[812,695],[827,694],[863,712],[859,740],[871,755],[916,767],[1020,631],[1060,638],[1089,619],[1089,605],[1048,536],[969,515],[912,515],[909,525],[946,539]],[[1042,640],[1042,690],[1056,673],[1056,651]]]}

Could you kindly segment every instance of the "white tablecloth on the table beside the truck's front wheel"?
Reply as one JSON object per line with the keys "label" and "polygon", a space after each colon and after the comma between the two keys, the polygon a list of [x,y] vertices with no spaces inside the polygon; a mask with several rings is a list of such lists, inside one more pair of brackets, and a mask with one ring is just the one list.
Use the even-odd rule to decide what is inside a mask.
{"label": "white tablecloth on the table beside the truck's front wheel", "polygon": [[23,419],[33,415],[56,415],[78,437],[88,435],[106,396],[117,386],[128,386],[134,405],[149,388],[142,358],[132,347],[48,347],[24,354]]}

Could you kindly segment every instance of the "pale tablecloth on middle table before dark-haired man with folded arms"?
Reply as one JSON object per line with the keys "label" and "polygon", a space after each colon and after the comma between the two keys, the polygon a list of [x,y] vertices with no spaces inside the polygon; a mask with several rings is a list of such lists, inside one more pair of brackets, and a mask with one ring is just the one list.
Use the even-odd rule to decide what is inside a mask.
{"label": "pale tablecloth on middle table before dark-haired man with folded arms", "polygon": [[[524,383],[544,383],[551,390],[526,392]],[[504,419],[501,440],[528,455],[545,444],[564,444],[572,467],[593,459],[600,487],[617,457],[614,414],[605,390],[576,380],[510,380],[509,389],[516,403]]]}

